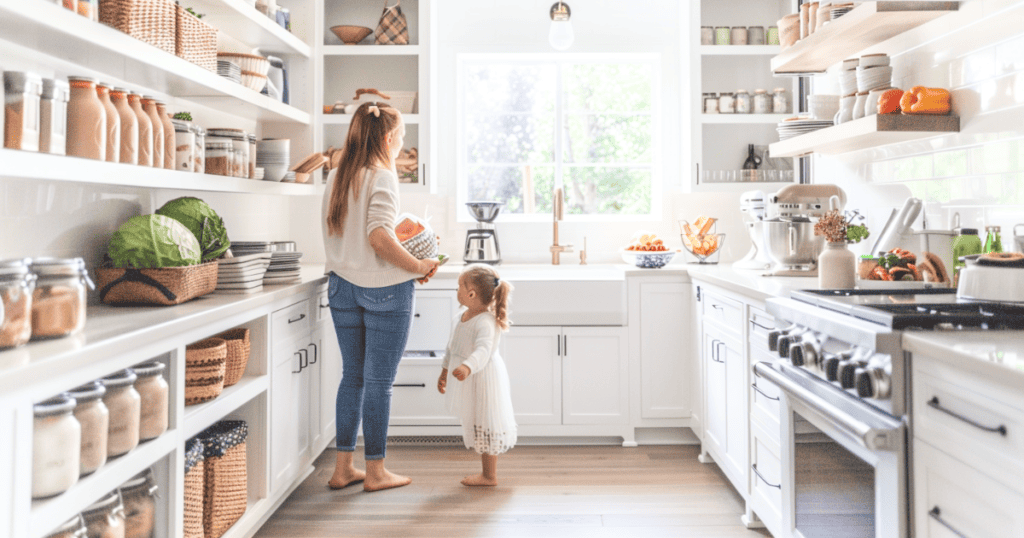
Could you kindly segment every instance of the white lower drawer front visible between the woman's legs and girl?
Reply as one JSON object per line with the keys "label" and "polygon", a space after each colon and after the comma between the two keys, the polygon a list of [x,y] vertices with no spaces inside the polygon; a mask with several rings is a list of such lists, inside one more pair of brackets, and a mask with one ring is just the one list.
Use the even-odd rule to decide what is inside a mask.
{"label": "white lower drawer front visible between the woman's legs and girl", "polygon": [[404,358],[398,365],[391,396],[391,421],[396,426],[458,425],[437,391],[440,359]]}

